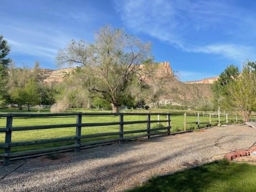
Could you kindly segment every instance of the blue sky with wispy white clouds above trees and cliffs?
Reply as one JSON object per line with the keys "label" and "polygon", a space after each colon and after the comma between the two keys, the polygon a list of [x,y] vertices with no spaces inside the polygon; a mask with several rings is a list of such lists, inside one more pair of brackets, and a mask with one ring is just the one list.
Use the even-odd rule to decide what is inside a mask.
{"label": "blue sky with wispy white clouds above trees and cliffs", "polygon": [[0,34],[17,66],[56,69],[60,48],[111,25],[150,41],[156,62],[194,81],[256,60],[255,9],[254,0],[1,0]]}

